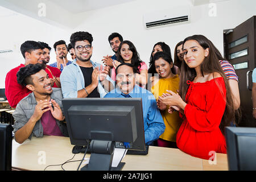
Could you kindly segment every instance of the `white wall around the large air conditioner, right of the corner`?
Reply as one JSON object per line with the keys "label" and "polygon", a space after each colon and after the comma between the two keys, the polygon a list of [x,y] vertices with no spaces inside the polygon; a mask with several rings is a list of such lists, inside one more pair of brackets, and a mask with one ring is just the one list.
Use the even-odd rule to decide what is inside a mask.
{"label": "white wall around the large air conditioner, right of the corner", "polygon": [[[146,29],[143,15],[159,10],[175,9],[184,5],[191,6],[191,23],[177,26]],[[89,11],[80,16],[85,17],[75,31],[88,31],[93,35],[92,60],[101,62],[102,56],[113,55],[108,43],[112,32],[119,32],[125,40],[134,43],[141,59],[148,63],[155,43],[165,42],[171,47],[172,56],[178,42],[187,36],[203,34],[212,40],[223,53],[223,30],[234,28],[238,24],[256,15],[255,0],[230,0],[216,3],[216,17],[210,17],[209,5],[193,6],[189,0],[137,0],[105,9]]]}

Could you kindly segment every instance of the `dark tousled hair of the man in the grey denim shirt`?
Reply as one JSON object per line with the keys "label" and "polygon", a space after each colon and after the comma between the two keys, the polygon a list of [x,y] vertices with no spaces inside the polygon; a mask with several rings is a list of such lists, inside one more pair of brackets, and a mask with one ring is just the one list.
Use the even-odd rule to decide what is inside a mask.
{"label": "dark tousled hair of the man in the grey denim shirt", "polygon": [[33,81],[31,78],[31,75],[34,75],[35,73],[40,72],[42,69],[44,69],[42,64],[28,64],[26,67],[22,67],[19,69],[17,76],[18,84],[22,86],[26,86],[28,84],[33,85]]}

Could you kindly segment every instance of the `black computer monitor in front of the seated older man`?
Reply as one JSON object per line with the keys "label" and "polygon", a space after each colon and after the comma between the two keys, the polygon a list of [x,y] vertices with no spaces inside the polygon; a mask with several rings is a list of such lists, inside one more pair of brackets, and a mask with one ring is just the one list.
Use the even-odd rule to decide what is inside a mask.
{"label": "black computer monitor in front of the seated older man", "polygon": [[[146,150],[141,98],[64,98],[62,104],[71,144],[86,146],[92,140],[86,169],[115,170],[111,168],[115,146]],[[93,161],[95,154],[99,154],[97,159],[101,159],[100,154],[110,155],[108,164],[104,167],[103,159]]]}

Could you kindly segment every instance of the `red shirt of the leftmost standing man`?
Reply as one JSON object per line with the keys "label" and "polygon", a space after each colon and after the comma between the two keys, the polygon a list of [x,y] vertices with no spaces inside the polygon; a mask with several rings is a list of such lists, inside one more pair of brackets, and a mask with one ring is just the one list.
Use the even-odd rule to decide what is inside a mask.
{"label": "red shirt of the leftmost standing man", "polygon": [[22,98],[28,96],[28,94],[32,92],[25,86],[18,84],[16,74],[22,67],[25,67],[25,65],[20,64],[18,67],[11,69],[5,78],[5,95],[11,107],[16,107]]}

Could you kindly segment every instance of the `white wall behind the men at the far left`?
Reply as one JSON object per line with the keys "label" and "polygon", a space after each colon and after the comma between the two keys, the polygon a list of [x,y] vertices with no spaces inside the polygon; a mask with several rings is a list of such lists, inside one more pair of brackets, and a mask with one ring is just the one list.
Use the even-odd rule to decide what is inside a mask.
{"label": "white wall behind the men at the far left", "polygon": [[[0,11],[6,11],[0,6]],[[9,10],[10,11],[10,10]],[[7,72],[24,64],[24,58],[20,53],[20,45],[26,40],[42,41],[52,48],[52,62],[56,60],[53,44],[61,39],[69,41],[69,31],[51,26],[28,16],[14,13],[0,16],[0,49],[13,49],[12,53],[0,54],[0,88],[5,88]]]}

